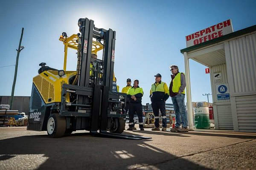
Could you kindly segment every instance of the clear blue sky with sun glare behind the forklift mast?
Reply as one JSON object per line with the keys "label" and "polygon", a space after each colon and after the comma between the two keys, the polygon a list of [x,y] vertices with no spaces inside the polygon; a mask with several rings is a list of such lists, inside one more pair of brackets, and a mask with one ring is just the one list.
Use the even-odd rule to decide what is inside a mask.
{"label": "clear blue sky with sun glare behind the forklift mast", "polygon": [[[97,28],[116,31],[114,71],[120,89],[126,79],[140,80],[143,104],[150,102],[154,75],[170,82],[170,65],[184,72],[180,49],[185,36],[231,19],[238,31],[256,24],[255,0],[0,0],[0,96],[10,96],[16,55],[24,28],[15,96],[30,96],[32,78],[41,62],[63,69],[63,31],[79,32],[79,18],[94,20]],[[69,51],[67,70],[76,70],[76,51]],[[211,93],[206,66],[190,60],[192,101],[207,101]],[[168,103],[172,103],[168,99]],[[209,97],[212,102],[212,96]]]}

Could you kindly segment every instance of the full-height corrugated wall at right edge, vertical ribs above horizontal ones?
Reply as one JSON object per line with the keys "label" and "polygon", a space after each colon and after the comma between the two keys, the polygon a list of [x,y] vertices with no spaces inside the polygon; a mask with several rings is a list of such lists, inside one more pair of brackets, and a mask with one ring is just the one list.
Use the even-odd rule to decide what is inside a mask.
{"label": "full-height corrugated wall at right edge, vertical ribs above horizontal ones", "polygon": [[234,129],[256,132],[256,34],[228,42]]}

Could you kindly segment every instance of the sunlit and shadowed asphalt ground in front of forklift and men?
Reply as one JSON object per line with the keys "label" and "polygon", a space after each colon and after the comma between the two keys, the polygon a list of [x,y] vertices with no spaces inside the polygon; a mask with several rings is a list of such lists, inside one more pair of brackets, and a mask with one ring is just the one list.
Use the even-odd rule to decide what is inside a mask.
{"label": "sunlit and shadowed asphalt ground in front of forklift and men", "polygon": [[124,133],[152,139],[94,137],[81,130],[51,139],[46,131],[0,127],[0,170],[256,169],[256,133],[179,133],[169,128],[167,132],[145,128]]}

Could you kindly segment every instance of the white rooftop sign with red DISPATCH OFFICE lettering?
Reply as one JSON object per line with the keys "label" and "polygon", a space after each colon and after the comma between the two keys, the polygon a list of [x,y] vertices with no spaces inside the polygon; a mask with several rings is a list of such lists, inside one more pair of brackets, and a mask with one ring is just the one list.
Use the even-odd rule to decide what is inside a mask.
{"label": "white rooftop sign with red DISPATCH OFFICE lettering", "polygon": [[187,47],[200,44],[233,32],[231,20],[218,23],[186,36]]}

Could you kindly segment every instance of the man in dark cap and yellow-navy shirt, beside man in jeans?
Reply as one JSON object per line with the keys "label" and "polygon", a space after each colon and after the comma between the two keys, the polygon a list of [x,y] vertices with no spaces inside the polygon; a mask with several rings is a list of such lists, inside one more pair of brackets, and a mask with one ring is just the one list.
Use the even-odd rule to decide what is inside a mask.
{"label": "man in dark cap and yellow-navy shirt, beside man in jeans", "polygon": [[159,131],[159,109],[162,115],[163,128],[162,131],[166,131],[166,108],[165,103],[169,98],[169,89],[165,82],[162,82],[161,74],[157,73],[155,76],[155,82],[151,85],[150,89],[150,99],[151,99],[151,107],[154,113],[154,125],[155,127],[151,130]]}

